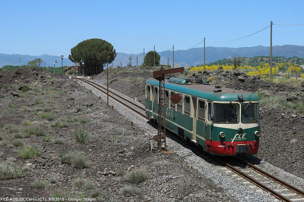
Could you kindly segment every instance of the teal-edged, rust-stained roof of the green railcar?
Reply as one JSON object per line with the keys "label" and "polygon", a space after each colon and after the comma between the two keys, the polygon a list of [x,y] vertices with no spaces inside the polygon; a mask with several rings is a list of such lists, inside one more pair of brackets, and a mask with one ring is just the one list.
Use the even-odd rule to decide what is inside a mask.
{"label": "teal-edged, rust-stained roof of the green railcar", "polygon": [[[159,81],[151,78],[147,80],[147,84],[151,84],[159,87]],[[247,101],[259,101],[259,97],[248,91],[240,91],[231,88],[215,88],[213,85],[206,84],[175,84],[168,82],[165,79],[165,89],[170,89],[172,91],[177,91],[185,94],[190,94],[199,98],[205,98],[212,101],[234,101],[238,100],[238,95],[242,94],[244,100]],[[214,92],[214,90],[222,90],[221,92]]]}

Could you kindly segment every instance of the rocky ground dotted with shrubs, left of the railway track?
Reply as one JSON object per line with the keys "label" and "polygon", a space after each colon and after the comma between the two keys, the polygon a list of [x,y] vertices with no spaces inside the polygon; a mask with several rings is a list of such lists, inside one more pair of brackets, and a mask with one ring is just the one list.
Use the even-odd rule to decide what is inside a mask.
{"label": "rocky ground dotted with shrubs, left of the railway track", "polygon": [[[124,91],[143,101],[138,82],[146,78],[135,78]],[[145,131],[69,79],[18,69],[0,71],[0,85],[1,197],[237,201],[178,155],[150,151]],[[76,141],[80,134],[88,142]],[[147,179],[122,175],[134,170]]]}

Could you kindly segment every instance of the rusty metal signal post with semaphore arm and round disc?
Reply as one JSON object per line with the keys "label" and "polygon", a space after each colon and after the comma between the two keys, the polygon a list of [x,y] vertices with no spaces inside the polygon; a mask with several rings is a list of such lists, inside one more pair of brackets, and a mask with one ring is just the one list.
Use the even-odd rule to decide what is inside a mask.
{"label": "rusty metal signal post with semaphore arm and round disc", "polygon": [[[171,99],[173,103],[179,103],[180,96],[178,94],[173,94],[171,98],[165,98],[165,75],[179,73],[185,71],[185,68],[174,68],[174,69],[167,69],[165,70],[163,67],[159,71],[153,72],[153,78],[159,80],[159,93],[158,93],[158,100],[159,100],[159,107],[158,107],[158,133],[150,140],[157,141],[157,147],[160,151],[162,151],[161,145],[164,144],[164,151],[167,150],[166,145],[166,111],[165,111],[165,99]],[[162,129],[161,126],[164,128]]]}

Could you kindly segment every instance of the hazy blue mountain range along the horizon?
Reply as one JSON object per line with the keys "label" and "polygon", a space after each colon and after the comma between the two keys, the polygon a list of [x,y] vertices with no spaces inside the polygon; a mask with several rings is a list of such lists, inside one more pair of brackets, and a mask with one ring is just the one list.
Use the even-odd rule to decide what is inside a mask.
{"label": "hazy blue mountain range along the horizon", "polygon": [[[145,55],[147,53],[145,52]],[[172,66],[173,52],[172,51],[162,51],[158,52],[161,56],[160,64],[167,65],[169,58],[169,65]],[[239,55],[240,57],[254,57],[254,56],[270,56],[270,47],[265,46],[254,46],[254,47],[241,47],[241,48],[225,48],[225,47],[206,47],[206,64],[215,62],[224,58],[230,59],[234,55]],[[132,58],[132,66],[141,65],[143,63],[143,53],[139,54],[126,54],[117,53],[115,60],[113,61],[113,66],[116,67],[121,65],[127,66],[130,62],[130,56]],[[297,56],[299,58],[304,58],[304,46],[298,45],[283,45],[283,46],[273,46],[272,56],[283,56],[285,58],[290,58]],[[48,65],[53,66],[54,60],[57,60],[55,67],[61,66],[60,56],[54,55],[19,55],[19,54],[0,54],[0,68],[5,65],[19,66],[19,58],[21,58],[21,65],[27,65],[27,63],[35,58],[40,58],[45,61],[46,67]],[[85,61],[84,61],[85,62]],[[177,50],[174,51],[174,66],[176,64],[181,65],[181,67],[197,66],[204,64],[204,48],[190,48],[188,50]],[[68,58],[63,58],[63,65],[74,65]],[[112,65],[112,64],[110,64]],[[44,66],[44,63],[43,65]]]}

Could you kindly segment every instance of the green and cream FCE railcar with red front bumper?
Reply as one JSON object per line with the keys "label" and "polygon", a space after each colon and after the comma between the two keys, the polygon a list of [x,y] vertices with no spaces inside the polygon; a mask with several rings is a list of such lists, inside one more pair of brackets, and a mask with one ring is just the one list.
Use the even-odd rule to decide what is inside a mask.
{"label": "green and cream FCE railcar with red front bumper", "polygon": [[[206,84],[202,79],[165,79],[166,128],[214,155],[257,154],[260,136],[259,98],[247,91]],[[146,114],[158,120],[159,81],[146,82]],[[228,111],[230,110],[230,111]],[[231,115],[233,114],[233,116]]]}

